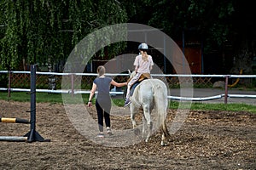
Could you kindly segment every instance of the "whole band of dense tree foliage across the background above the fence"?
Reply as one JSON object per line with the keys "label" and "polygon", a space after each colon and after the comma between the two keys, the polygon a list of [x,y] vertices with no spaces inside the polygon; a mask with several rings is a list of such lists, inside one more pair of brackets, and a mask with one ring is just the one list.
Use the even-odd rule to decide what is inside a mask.
{"label": "whole band of dense tree foliage across the background above the fence", "polygon": [[[236,0],[1,1],[1,69],[14,69],[22,62],[65,60],[88,33],[133,22],[160,28],[174,39],[181,39],[183,32],[195,34],[203,43],[204,54],[218,51],[224,55],[229,48],[232,59],[224,55],[220,64],[227,68],[236,59],[237,71],[250,73],[256,56],[253,11],[250,3]],[[107,49],[108,57],[124,48],[124,43],[113,44]]]}

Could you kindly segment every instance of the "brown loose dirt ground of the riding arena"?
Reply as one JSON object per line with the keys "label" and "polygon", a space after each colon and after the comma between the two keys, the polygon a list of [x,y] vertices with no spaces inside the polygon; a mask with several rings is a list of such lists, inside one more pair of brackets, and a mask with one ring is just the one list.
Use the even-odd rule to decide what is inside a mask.
{"label": "brown loose dirt ground of the riding arena", "polygon": [[[0,116],[29,119],[30,103],[0,100],[0,105]],[[95,107],[89,111],[96,117]],[[168,111],[167,122],[175,114]],[[131,128],[129,116],[111,121],[113,129]],[[23,136],[30,126],[2,122],[0,130],[0,136]],[[96,144],[73,127],[63,105],[38,103],[36,130],[50,142],[0,141],[0,169],[256,169],[256,115],[247,112],[189,111],[165,147],[160,133],[125,147]]]}

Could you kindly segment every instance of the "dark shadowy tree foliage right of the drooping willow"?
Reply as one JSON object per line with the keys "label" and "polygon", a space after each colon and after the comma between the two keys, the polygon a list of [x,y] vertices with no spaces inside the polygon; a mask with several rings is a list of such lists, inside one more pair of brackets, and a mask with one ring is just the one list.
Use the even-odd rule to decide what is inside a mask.
{"label": "dark shadowy tree foliage right of the drooping willow", "polygon": [[[119,0],[127,11],[130,22],[138,22],[163,29],[173,39],[181,39],[183,31],[196,31],[204,44],[204,54],[212,50],[224,53],[231,47],[236,59],[231,69],[252,72],[255,56],[255,11],[247,2],[229,0]],[[225,57],[225,56],[224,56]],[[223,59],[223,65],[232,62]]]}

